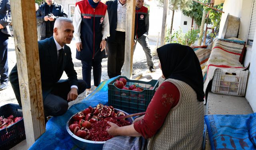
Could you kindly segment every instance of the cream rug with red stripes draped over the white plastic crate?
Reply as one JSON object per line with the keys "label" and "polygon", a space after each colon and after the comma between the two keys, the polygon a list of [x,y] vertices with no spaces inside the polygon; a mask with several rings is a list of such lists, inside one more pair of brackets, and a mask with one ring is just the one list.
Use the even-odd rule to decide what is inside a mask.
{"label": "cream rug with red stripes draped over the white plastic crate", "polygon": [[204,92],[206,92],[216,68],[230,68],[231,70],[244,70],[247,68],[239,62],[244,46],[245,42],[237,38],[214,40],[210,58],[203,70]]}

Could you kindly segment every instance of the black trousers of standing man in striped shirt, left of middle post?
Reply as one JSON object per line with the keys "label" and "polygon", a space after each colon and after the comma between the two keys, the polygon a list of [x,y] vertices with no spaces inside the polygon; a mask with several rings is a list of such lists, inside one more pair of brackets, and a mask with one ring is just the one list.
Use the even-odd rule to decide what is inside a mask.
{"label": "black trousers of standing man in striped shirt, left of middle post", "polygon": [[125,32],[116,31],[114,42],[107,42],[108,48],[108,77],[121,75],[124,65]]}

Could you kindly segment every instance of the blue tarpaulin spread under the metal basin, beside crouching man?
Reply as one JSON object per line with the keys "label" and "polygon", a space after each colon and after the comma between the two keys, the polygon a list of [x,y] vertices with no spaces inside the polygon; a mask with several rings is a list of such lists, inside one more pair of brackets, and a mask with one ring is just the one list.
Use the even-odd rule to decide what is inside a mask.
{"label": "blue tarpaulin spread under the metal basin, beside crouching man", "polygon": [[72,115],[88,106],[95,107],[99,103],[107,105],[108,83],[111,81],[112,79],[102,82],[90,96],[71,106],[64,115],[51,118],[46,124],[46,132],[29,150],[79,150],[66,130],[66,123]]}

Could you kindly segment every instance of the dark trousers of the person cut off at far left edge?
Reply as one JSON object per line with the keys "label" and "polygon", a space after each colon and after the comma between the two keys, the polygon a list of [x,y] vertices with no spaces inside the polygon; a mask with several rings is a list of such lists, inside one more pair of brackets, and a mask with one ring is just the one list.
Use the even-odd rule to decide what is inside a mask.
{"label": "dark trousers of the person cut off at far left edge", "polygon": [[0,30],[0,82],[8,81],[8,35]]}

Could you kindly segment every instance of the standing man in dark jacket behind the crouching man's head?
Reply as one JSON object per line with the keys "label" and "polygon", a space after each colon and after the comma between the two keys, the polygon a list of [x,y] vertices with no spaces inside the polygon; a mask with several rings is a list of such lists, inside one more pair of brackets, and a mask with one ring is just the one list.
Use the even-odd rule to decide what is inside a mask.
{"label": "standing man in dark jacket behind the crouching man's head", "polygon": [[53,27],[56,18],[68,17],[62,5],[54,0],[45,0],[36,13],[36,21],[40,24],[41,40],[53,35]]}

